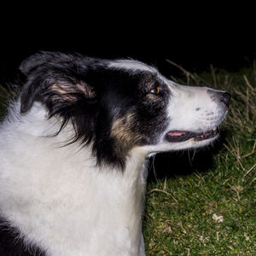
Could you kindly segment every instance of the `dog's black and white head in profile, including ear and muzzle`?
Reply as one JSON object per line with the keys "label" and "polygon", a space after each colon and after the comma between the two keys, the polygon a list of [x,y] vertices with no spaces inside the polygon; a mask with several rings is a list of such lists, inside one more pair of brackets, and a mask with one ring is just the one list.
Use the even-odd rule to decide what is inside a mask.
{"label": "dog's black and white head in profile, including ear and muzzle", "polygon": [[61,130],[73,124],[73,142],[92,144],[99,164],[124,166],[133,148],[150,154],[207,145],[230,103],[224,91],[175,84],[140,61],[43,52],[20,70],[20,112],[41,102]]}

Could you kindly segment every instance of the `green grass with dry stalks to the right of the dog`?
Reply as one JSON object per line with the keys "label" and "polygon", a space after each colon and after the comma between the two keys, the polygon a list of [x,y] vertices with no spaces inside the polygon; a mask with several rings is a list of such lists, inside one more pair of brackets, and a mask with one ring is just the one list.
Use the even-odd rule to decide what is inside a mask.
{"label": "green grass with dry stalks to the right of the dog", "polygon": [[[184,79],[176,79],[180,84],[230,91],[230,113],[218,150],[195,154],[195,164],[187,153],[156,156],[155,162],[179,156],[182,162],[171,163],[160,178],[148,183],[143,223],[146,253],[256,255],[256,69],[183,73]],[[206,161],[204,170],[199,163]],[[157,176],[161,170],[155,169]]]}

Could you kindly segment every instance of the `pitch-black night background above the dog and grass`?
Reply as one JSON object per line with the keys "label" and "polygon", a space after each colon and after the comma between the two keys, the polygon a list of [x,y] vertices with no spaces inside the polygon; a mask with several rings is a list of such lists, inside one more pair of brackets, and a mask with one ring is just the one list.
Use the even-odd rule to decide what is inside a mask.
{"label": "pitch-black night background above the dog and grass", "polygon": [[98,9],[72,4],[65,11],[38,6],[25,12],[17,7],[18,15],[2,16],[0,82],[13,79],[20,62],[38,50],[131,57],[159,67],[166,75],[178,75],[166,59],[192,72],[207,70],[211,64],[237,71],[252,66],[256,56],[250,6],[234,10],[209,2],[201,6],[204,9],[191,9],[186,3],[178,8],[154,3],[148,10],[124,2],[126,6],[109,12],[98,4]]}

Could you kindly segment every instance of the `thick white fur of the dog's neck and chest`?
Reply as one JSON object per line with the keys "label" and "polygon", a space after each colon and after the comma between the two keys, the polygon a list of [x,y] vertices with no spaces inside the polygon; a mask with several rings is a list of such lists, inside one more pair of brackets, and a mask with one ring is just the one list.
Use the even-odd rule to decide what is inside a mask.
{"label": "thick white fur of the dog's neck and chest", "polygon": [[96,166],[90,146],[60,147],[71,132],[68,126],[57,137],[39,136],[52,132],[56,122],[39,110],[5,123],[12,132],[4,140],[22,138],[22,143],[4,151],[19,157],[3,172],[9,176],[6,189],[0,189],[3,217],[12,216],[12,224],[30,234],[26,240],[49,255],[143,255],[145,152],[133,148],[123,171]]}

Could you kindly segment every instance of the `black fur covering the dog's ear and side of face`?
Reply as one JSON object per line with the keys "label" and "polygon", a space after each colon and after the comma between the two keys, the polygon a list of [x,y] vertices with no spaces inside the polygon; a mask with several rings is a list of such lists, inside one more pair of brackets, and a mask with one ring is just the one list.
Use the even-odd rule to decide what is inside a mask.
{"label": "black fur covering the dog's ear and side of face", "polygon": [[[33,55],[20,66],[26,75],[20,112],[29,111],[34,101],[42,102],[49,118],[62,118],[61,130],[73,123],[74,136],[67,143],[93,142],[99,165],[124,167],[132,147],[156,143],[157,134],[166,128],[170,92],[165,86],[160,95],[151,92],[163,83],[154,73],[110,68],[108,63],[79,54]],[[118,141],[112,136],[113,123],[129,113],[133,120],[124,125],[134,139]]]}

